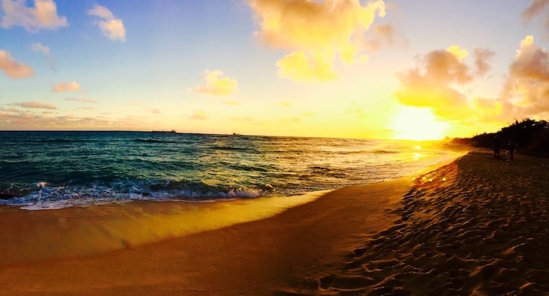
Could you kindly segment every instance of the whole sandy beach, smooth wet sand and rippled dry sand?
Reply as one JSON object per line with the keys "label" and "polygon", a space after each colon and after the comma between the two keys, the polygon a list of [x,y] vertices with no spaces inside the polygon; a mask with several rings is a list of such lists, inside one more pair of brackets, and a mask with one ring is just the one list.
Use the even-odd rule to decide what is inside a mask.
{"label": "whole sandy beach, smooth wet sand and rippled dry sand", "polygon": [[[543,295],[547,180],[547,159],[476,150],[305,204],[4,207],[0,295]],[[211,225],[164,227],[191,209]],[[208,214],[228,209],[246,219]]]}

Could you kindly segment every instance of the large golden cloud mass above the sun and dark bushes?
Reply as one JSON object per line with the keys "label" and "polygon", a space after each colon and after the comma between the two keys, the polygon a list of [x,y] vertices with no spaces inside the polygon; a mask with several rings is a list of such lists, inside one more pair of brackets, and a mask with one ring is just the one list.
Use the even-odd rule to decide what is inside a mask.
{"label": "large golden cloud mass above the sun and dark bushes", "polygon": [[[463,85],[484,75],[489,70],[486,60],[494,53],[488,49],[475,49],[475,75],[465,60],[450,53],[452,58],[441,58],[444,51],[432,51],[425,55],[421,66],[401,73],[401,87],[395,97],[406,106],[428,108],[439,118],[460,121],[502,123],[524,117],[549,116],[549,53],[535,45],[533,36],[520,42],[513,61],[509,64],[502,92],[495,98],[468,99],[455,84]],[[446,51],[448,53],[448,51]]]}

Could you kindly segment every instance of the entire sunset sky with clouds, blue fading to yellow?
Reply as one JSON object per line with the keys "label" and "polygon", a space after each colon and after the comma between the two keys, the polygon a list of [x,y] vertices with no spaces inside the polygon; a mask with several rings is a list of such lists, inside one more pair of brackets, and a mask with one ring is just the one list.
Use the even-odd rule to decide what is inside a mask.
{"label": "entire sunset sky with clouds, blue fading to yellow", "polygon": [[549,0],[0,0],[0,130],[440,139],[549,117]]}

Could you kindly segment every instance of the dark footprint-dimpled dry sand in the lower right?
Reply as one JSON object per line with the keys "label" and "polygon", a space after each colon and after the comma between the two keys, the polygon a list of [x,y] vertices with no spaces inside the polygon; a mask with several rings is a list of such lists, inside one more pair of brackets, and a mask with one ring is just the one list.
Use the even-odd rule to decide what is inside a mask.
{"label": "dark footprint-dimpled dry sand in the lower right", "polygon": [[418,177],[393,227],[296,295],[548,295],[548,164],[473,152]]}

